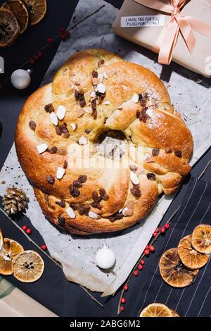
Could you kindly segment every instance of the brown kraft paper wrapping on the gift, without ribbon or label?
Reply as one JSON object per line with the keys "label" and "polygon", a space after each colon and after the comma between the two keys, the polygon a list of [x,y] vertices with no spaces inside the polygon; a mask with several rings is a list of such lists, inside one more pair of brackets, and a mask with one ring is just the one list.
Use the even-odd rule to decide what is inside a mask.
{"label": "brown kraft paper wrapping on the gift, without ribbon or label", "polygon": [[[137,0],[139,1],[139,0]],[[150,0],[148,0],[150,4]],[[169,3],[168,0],[162,2]],[[181,9],[184,15],[193,16],[205,23],[211,24],[211,0],[191,0],[184,8]],[[122,16],[136,15],[165,15],[165,23],[170,20],[170,15],[155,11],[146,6],[138,4],[134,0],[124,0],[117,18],[113,24],[113,31],[120,37],[139,44],[147,49],[152,50],[163,27],[122,27],[120,20]],[[183,37],[179,34],[177,45],[174,49],[173,61],[183,65],[185,68],[200,73],[205,77],[211,76],[211,38],[193,31],[196,37],[196,48],[192,54],[184,42]]]}

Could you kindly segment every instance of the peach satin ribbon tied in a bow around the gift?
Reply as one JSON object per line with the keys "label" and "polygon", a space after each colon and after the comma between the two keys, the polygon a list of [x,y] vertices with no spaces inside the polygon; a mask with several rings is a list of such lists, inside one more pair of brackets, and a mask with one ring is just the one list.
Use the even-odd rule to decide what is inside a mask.
{"label": "peach satin ribbon tied in a bow around the gift", "polygon": [[153,51],[156,51],[159,54],[158,62],[161,64],[170,64],[172,61],[179,32],[184,38],[190,53],[193,52],[196,46],[193,30],[211,37],[211,25],[203,23],[202,21],[197,20],[197,18],[182,15],[180,11],[186,3],[186,0],[171,0],[171,4],[164,4],[160,0],[135,1],[148,8],[171,14],[170,21],[166,23],[155,43],[155,46],[153,46]]}

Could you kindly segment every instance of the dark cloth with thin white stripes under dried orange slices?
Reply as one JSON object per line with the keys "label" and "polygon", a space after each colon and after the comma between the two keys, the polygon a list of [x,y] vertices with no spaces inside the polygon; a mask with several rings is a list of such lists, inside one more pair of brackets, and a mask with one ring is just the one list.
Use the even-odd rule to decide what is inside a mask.
{"label": "dark cloth with thin white stripes under dried orange slices", "polygon": [[[167,249],[177,247],[179,240],[193,232],[200,223],[211,225],[211,185],[192,178],[177,215],[165,237],[155,243],[155,254],[146,258],[139,277],[134,277],[127,299],[128,316],[137,316],[148,304],[158,302],[176,310],[180,316],[211,316],[211,263],[200,270],[188,287],[173,288],[160,276],[158,262]],[[126,313],[126,307],[125,307]]]}

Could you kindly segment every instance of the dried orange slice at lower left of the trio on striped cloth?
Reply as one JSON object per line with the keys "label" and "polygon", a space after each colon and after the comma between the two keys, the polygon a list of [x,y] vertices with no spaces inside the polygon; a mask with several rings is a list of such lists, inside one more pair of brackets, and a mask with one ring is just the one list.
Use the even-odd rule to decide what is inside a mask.
{"label": "dried orange slice at lower left of the trio on striped cloth", "polygon": [[186,287],[193,282],[198,269],[190,270],[181,263],[177,249],[169,249],[162,254],[159,262],[160,275],[172,287]]}

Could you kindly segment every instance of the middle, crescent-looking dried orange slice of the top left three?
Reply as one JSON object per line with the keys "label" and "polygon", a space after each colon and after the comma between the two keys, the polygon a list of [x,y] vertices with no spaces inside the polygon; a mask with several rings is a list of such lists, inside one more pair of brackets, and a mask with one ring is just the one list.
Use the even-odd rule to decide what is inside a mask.
{"label": "middle, crescent-looking dried orange slice of the top left three", "polygon": [[2,8],[8,8],[18,20],[20,25],[20,33],[23,33],[29,25],[30,15],[27,10],[27,6],[21,0],[8,0],[1,6]]}

